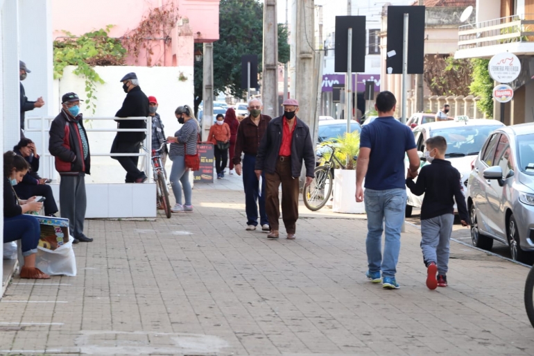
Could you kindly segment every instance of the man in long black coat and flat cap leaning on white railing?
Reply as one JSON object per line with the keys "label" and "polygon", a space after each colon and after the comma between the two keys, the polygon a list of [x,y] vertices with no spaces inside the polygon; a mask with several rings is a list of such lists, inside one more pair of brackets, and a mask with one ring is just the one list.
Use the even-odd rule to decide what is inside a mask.
{"label": "man in long black coat and flat cap leaning on white railing", "polygon": [[[148,97],[139,87],[139,81],[135,73],[128,73],[121,79],[126,98],[122,108],[115,114],[116,117],[148,117]],[[146,128],[145,120],[115,120],[118,128]],[[117,133],[111,147],[111,153],[139,153],[141,142],[145,139],[145,133]],[[143,183],[148,177],[145,172],[139,171],[137,163],[139,156],[112,157],[118,160],[126,170],[126,183]]]}

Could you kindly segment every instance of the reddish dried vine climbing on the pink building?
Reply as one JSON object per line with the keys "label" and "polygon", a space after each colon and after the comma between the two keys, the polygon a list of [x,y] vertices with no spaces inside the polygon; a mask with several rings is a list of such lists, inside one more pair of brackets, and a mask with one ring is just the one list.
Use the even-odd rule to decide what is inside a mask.
{"label": "reddish dried vine climbing on the pink building", "polygon": [[139,26],[128,31],[122,38],[123,46],[128,53],[135,57],[135,63],[139,62],[141,50],[146,50],[146,65],[151,67],[159,62],[153,62],[154,48],[158,46],[160,40],[164,41],[164,46],[171,44],[171,30],[178,22],[178,8],[172,6],[161,6],[148,10],[148,15],[139,22]]}

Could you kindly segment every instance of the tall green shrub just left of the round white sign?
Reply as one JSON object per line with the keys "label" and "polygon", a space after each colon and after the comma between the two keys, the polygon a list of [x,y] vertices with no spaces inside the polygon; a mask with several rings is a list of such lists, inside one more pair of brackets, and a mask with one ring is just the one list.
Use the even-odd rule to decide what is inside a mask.
{"label": "tall green shrub just left of the round white sign", "polygon": [[477,106],[487,117],[493,117],[493,87],[494,83],[488,71],[488,63],[490,60],[483,60],[480,58],[473,58],[471,60],[473,66],[472,78],[470,85],[471,93],[474,96],[480,96],[481,99]]}

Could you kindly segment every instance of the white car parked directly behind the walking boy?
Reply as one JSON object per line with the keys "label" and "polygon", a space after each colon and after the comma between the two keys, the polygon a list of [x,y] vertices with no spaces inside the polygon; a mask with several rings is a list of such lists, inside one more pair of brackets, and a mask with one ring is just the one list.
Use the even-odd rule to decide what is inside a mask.
{"label": "white car parked directly behind the walking boy", "polygon": [[[447,153],[445,159],[451,162],[452,166],[460,172],[460,180],[464,187],[467,187],[467,178],[472,169],[472,162],[479,154],[485,139],[493,130],[504,126],[503,123],[490,119],[473,119],[467,121],[438,121],[429,124],[422,124],[413,129],[415,144],[417,144],[418,155],[421,159],[421,167],[424,164],[424,142],[429,137],[443,136],[447,139]],[[409,166],[408,158],[405,160],[406,169]],[[417,180],[417,178],[415,178]],[[406,202],[406,217],[410,217],[413,207],[421,207],[422,196],[412,194],[410,189],[406,189],[408,201]],[[465,194],[465,191],[464,191]],[[456,209],[456,206],[455,206]]]}

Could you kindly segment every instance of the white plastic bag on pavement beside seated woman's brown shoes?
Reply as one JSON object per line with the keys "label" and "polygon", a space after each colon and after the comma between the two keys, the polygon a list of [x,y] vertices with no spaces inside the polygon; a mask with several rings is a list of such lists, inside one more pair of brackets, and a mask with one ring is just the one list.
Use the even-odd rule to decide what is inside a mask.
{"label": "white plastic bag on pavement beside seated woman's brown shoes", "polygon": [[35,266],[50,276],[76,276],[73,240],[74,237],[70,237],[67,243],[58,246],[55,250],[37,246]]}

